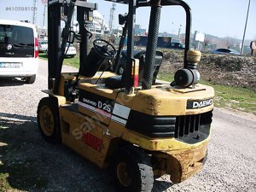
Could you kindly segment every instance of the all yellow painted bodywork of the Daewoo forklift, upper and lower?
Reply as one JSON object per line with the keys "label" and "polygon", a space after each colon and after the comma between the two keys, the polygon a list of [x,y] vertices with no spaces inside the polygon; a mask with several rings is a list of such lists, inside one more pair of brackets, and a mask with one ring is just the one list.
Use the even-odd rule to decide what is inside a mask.
{"label": "all yellow painted bodywork of the Daewoo forklift, upper and lower", "polygon": [[[100,74],[97,73],[94,78],[98,79]],[[113,73],[106,73],[104,77],[110,76],[113,76]],[[74,78],[75,73],[63,73],[61,86],[64,87],[66,80],[74,80]],[[106,97],[131,110],[149,115],[198,114],[206,113],[213,108],[213,104],[205,108],[187,108],[188,100],[206,100],[214,96],[212,87],[202,84],[196,84],[195,89],[177,89],[169,84],[157,84],[151,90],[142,90],[138,87],[132,94],[127,95],[123,89],[111,90],[104,84],[88,83],[88,79],[84,81],[87,83],[83,83],[82,79],[79,89]],[[179,183],[201,170],[209,137],[195,144],[183,143],[173,137],[147,137],[126,129],[124,125],[112,121],[109,117],[84,108],[77,108],[76,103],[69,103],[66,100],[64,88],[59,89],[58,96],[51,90],[44,90],[44,92],[58,99],[62,143],[99,167],[108,166],[111,154],[118,143],[125,142],[150,151],[162,167],[155,169],[154,174],[171,174],[173,183]],[[119,170],[122,167],[124,168],[120,166]]]}

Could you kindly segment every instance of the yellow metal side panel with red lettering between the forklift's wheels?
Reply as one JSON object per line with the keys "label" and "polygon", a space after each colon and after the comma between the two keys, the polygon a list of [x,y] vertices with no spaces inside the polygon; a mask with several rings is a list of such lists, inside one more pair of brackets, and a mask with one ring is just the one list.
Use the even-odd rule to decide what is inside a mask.
{"label": "yellow metal side panel with red lettering between the forklift's wheels", "polygon": [[[60,108],[62,143],[73,148],[74,151],[94,162],[99,167],[106,166],[105,159],[108,154],[110,137],[108,127],[91,119],[89,116],[69,110],[68,105]],[[83,142],[85,134],[90,133],[102,140],[102,148],[96,150]]]}

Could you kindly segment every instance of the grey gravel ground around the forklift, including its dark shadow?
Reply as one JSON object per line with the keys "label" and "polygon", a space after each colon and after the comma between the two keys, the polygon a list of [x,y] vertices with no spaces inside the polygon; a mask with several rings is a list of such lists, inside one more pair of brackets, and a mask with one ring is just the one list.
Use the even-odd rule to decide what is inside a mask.
{"label": "grey gravel ground around the forklift, including its dark shadow", "polygon": [[[115,191],[109,170],[40,136],[36,112],[46,74],[47,62],[40,61],[35,84],[0,79],[0,176],[12,189],[0,178],[0,191]],[[176,185],[161,177],[154,191],[256,191],[256,116],[216,108],[204,169]]]}

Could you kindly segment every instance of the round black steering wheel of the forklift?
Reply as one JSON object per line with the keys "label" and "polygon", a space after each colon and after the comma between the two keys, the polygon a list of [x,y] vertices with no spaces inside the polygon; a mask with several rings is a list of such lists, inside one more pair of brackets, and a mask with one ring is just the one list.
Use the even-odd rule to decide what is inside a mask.
{"label": "round black steering wheel of the forklift", "polygon": [[116,55],[116,49],[108,41],[104,39],[95,39],[93,41],[93,47],[96,50],[96,53],[102,55],[103,57],[108,57],[113,59]]}

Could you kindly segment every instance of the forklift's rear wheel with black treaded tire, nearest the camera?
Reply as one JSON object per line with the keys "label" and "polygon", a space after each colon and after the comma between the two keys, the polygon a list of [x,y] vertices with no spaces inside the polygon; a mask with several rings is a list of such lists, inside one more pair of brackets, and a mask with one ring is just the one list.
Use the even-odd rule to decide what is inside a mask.
{"label": "forklift's rear wheel with black treaded tire, nearest the camera", "polygon": [[154,173],[150,156],[142,149],[119,148],[113,157],[113,177],[119,192],[150,192]]}

